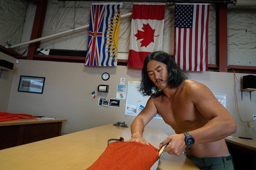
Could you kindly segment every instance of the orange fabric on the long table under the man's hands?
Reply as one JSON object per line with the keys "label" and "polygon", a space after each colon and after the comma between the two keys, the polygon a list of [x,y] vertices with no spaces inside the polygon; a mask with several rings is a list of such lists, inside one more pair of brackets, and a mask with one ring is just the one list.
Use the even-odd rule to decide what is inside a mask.
{"label": "orange fabric on the long table under the man's hands", "polygon": [[86,170],[149,170],[159,157],[158,149],[138,142],[117,142],[107,146]]}

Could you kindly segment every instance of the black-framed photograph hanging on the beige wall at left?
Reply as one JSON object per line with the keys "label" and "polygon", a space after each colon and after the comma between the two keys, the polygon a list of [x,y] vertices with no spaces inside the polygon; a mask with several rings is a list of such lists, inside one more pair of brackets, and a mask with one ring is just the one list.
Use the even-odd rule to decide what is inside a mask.
{"label": "black-framed photograph hanging on the beige wall at left", "polygon": [[43,93],[45,77],[20,76],[18,91]]}

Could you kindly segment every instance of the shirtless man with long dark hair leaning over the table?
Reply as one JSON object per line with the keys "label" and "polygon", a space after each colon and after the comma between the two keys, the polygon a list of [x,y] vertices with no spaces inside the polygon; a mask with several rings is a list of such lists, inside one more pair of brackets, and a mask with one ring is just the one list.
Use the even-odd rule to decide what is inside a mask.
{"label": "shirtless man with long dark hair leaning over the table", "polygon": [[[127,142],[148,144],[142,137],[144,127],[159,113],[176,133],[159,145],[162,147],[169,143],[165,152],[179,156],[185,149],[187,156],[200,169],[213,165],[213,169],[233,169],[224,138],[236,132],[236,123],[211,90],[199,82],[188,80],[187,73],[162,51],[146,57],[141,76],[140,91],[151,97],[132,122],[132,139]],[[184,132],[194,138],[190,147],[185,142]],[[208,165],[204,163],[205,158]],[[221,166],[215,165],[216,161]]]}

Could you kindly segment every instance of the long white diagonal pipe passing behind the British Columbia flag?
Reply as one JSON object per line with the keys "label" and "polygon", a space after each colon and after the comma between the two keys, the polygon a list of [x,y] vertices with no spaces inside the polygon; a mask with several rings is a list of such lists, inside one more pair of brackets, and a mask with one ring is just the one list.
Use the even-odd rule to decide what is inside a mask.
{"label": "long white diagonal pipe passing behind the British Columbia flag", "polygon": [[[121,18],[129,17],[131,15],[132,15],[132,12],[129,12],[127,14],[121,15]],[[60,32],[60,33],[56,33],[56,34],[48,35],[48,36],[45,36],[45,37],[37,38],[37,39],[34,39],[34,40],[30,40],[30,41],[27,41],[27,42],[23,42],[23,43],[19,43],[19,44],[16,44],[16,45],[12,45],[12,46],[7,47],[7,48],[15,48],[15,47],[19,47],[19,46],[24,46],[24,45],[35,43],[35,42],[38,42],[38,41],[42,41],[42,40],[45,40],[45,39],[48,39],[48,38],[53,38],[53,37],[56,37],[56,36],[59,36],[59,35],[71,33],[73,31],[78,31],[78,30],[81,30],[81,29],[89,28],[89,26],[90,25],[87,24],[87,25],[84,25],[84,26],[81,26],[81,27],[77,27],[77,28],[74,28],[74,29],[71,29],[71,30],[66,30],[66,31],[63,31],[63,32]]]}

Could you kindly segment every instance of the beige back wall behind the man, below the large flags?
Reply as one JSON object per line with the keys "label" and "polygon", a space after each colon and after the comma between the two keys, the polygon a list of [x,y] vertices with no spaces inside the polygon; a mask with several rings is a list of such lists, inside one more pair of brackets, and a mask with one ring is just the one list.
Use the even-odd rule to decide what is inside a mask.
{"label": "beige back wall behind the man, below the large flags", "polygon": [[[110,79],[101,79],[103,72],[110,73]],[[13,81],[10,98],[10,113],[52,116],[67,119],[63,123],[62,132],[72,133],[104,124],[125,122],[131,125],[133,116],[125,116],[126,100],[120,101],[120,107],[98,106],[99,97],[115,98],[120,78],[128,81],[139,81],[141,69],[126,66],[116,67],[85,67],[83,63],[66,63],[54,61],[19,60]],[[189,72],[191,79],[207,85],[213,93],[227,94],[227,110],[237,123],[234,136],[256,138],[255,127],[247,127],[247,123],[239,120],[234,93],[234,74],[222,72]],[[43,94],[18,92],[20,75],[45,77]],[[247,74],[236,74],[239,81]],[[0,79],[0,81],[2,81]],[[12,80],[10,80],[12,81]],[[97,92],[100,84],[110,85],[109,93]],[[2,85],[2,84],[1,84]],[[12,83],[10,83],[10,86]],[[238,109],[243,121],[250,121],[256,114],[256,92],[244,92],[241,101],[241,84],[236,80]],[[95,91],[93,99],[89,93]],[[1,98],[0,103],[3,101]],[[2,108],[1,110],[2,111]],[[256,125],[256,124],[255,124]],[[168,135],[174,131],[162,119],[153,119],[147,127],[163,129]],[[117,137],[113,137],[117,138]]]}

